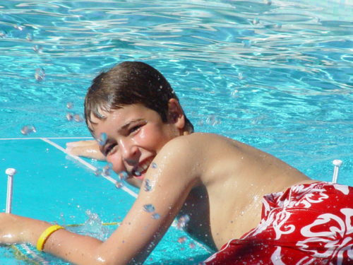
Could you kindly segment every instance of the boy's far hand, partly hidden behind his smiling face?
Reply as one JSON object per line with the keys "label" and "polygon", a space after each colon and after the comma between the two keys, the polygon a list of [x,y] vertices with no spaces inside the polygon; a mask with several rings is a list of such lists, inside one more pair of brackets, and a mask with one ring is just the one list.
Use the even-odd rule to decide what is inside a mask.
{"label": "boy's far hand, partly hidden behind his smiling face", "polygon": [[66,143],[66,152],[71,155],[79,155],[85,158],[105,160],[105,156],[100,152],[100,147],[95,140]]}

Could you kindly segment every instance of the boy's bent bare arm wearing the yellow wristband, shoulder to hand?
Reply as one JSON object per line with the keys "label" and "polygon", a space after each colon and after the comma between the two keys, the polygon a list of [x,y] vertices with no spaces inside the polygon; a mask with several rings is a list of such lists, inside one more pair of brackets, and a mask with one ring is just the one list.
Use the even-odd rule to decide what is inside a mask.
{"label": "boy's bent bare arm wearing the yellow wristband, shoulder to hand", "polygon": [[[57,230],[48,238],[44,251],[73,264],[142,264],[171,225],[198,176],[198,167],[192,166],[194,158],[186,148],[171,142],[155,158],[156,167],[148,169],[138,199],[107,241]],[[147,179],[151,189],[144,189]],[[12,216],[3,214],[6,215]],[[28,218],[6,223],[1,217],[0,242],[6,242],[4,237],[10,229],[18,229],[13,232],[12,242],[19,242],[22,232],[25,238],[20,242],[35,245],[42,231],[49,227],[48,223]]]}

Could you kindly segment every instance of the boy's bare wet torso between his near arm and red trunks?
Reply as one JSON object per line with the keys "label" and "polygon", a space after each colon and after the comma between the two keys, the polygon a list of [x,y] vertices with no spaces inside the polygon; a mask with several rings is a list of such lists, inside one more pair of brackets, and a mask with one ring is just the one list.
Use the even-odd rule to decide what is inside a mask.
{"label": "boy's bare wet torso between his near arm and red trunks", "polygon": [[191,190],[181,214],[191,216],[187,229],[191,235],[217,249],[258,225],[263,195],[313,182],[282,160],[244,143],[215,134],[182,137],[189,138],[201,182]]}

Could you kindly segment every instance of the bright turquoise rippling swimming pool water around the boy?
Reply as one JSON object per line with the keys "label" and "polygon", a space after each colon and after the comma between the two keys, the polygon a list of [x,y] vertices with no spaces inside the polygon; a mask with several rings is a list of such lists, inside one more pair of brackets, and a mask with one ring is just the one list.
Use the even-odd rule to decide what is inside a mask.
{"label": "bright turquoise rippling swimming pool water around the boy", "polygon": [[[196,131],[249,143],[314,179],[330,180],[340,159],[338,182],[352,185],[352,13],[352,1],[1,1],[0,170],[18,170],[13,213],[64,224],[124,217],[133,196],[42,140],[89,137],[67,114],[81,115],[92,78],[124,60],[160,70]],[[36,132],[21,134],[26,125]],[[0,198],[3,209],[5,175]],[[180,233],[147,262],[209,253],[180,245]],[[1,264],[30,262],[2,251]]]}

